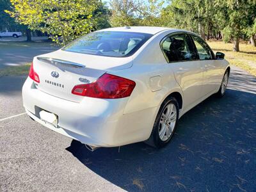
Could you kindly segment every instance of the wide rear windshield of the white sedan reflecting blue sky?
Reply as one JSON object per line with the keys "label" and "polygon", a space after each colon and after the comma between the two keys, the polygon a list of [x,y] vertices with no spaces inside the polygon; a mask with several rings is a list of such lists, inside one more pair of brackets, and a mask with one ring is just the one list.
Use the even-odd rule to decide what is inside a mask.
{"label": "wide rear windshield of the white sedan reflecting blue sky", "polygon": [[147,33],[99,31],[82,36],[62,50],[99,56],[126,57],[134,54],[151,36]]}

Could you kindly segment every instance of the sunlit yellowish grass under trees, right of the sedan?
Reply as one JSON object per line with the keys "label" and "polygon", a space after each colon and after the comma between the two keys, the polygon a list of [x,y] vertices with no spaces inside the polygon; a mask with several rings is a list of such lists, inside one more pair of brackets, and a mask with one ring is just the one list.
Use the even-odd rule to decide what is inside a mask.
{"label": "sunlit yellowish grass under trees, right of the sedan", "polygon": [[225,53],[225,59],[231,65],[243,68],[253,76],[256,76],[256,47],[250,44],[239,43],[240,52],[234,52],[233,44],[225,44],[222,41],[208,41],[214,52],[220,51]]}

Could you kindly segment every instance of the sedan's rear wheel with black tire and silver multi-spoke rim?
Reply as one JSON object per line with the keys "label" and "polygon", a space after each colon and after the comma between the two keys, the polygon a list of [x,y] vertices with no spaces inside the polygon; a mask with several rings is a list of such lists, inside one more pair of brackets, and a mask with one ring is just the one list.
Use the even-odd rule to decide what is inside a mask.
{"label": "sedan's rear wheel with black tire and silver multi-spoke rim", "polygon": [[[168,109],[171,111],[167,113]],[[170,118],[164,118],[165,115],[170,115]],[[155,148],[164,147],[172,139],[178,120],[179,103],[174,97],[168,97],[161,104],[150,137],[145,143]]]}

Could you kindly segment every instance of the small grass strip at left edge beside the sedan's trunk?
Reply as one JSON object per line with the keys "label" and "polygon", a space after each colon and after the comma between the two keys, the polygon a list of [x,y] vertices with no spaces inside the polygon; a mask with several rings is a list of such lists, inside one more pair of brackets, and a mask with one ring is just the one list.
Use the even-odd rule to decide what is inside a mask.
{"label": "small grass strip at left edge beside the sedan's trunk", "polygon": [[26,65],[10,66],[0,69],[0,77],[3,76],[28,76],[30,63]]}

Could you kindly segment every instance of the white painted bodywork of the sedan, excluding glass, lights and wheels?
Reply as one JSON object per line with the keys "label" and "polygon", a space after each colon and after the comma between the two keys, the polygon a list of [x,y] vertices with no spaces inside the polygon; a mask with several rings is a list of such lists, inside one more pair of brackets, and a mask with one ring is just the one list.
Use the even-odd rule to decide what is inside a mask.
{"label": "white painted bodywork of the sedan, excluding glass, lights and wheels", "polygon": [[[153,36],[132,56],[113,58],[58,50],[41,55],[80,63],[84,68],[60,68],[33,59],[35,72],[44,76],[40,83],[28,77],[22,88],[23,105],[31,118],[40,124],[84,144],[94,147],[116,147],[145,141],[149,138],[159,108],[166,97],[177,92],[182,97],[180,116],[213,93],[218,92],[226,60],[180,61],[168,63],[160,42],[171,33],[191,33],[180,29],[131,27],[110,28],[102,31],[132,31],[151,33]],[[58,80],[51,71],[60,74]],[[130,97],[97,99],[71,94],[79,77],[96,81],[108,72],[131,79],[136,83]],[[60,89],[44,82],[65,84]],[[57,82],[58,81],[58,82]],[[49,111],[58,115],[58,126],[40,119],[39,113]]]}

